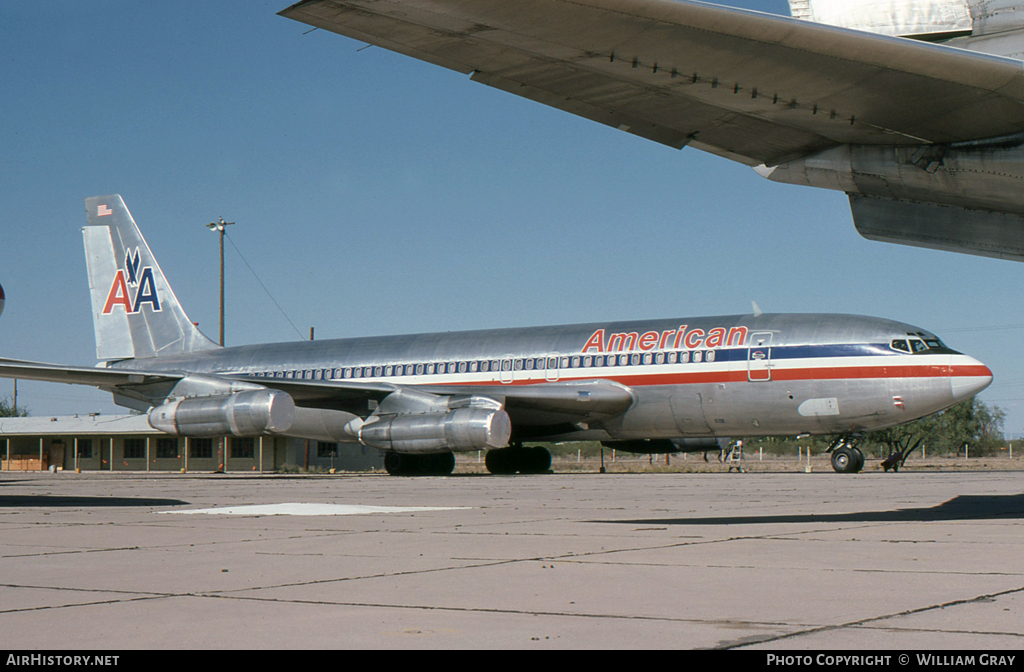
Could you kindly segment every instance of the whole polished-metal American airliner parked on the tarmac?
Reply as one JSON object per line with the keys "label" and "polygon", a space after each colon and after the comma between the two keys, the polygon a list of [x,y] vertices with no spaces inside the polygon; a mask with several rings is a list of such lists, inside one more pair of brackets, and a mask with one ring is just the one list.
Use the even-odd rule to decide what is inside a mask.
{"label": "whole polished-metal American airliner parked on the tarmac", "polygon": [[722,437],[835,434],[858,471],[862,432],[908,422],[992,380],[907,324],[846,314],[594,323],[220,347],[188,320],[120,196],[85,201],[99,367],[0,360],[0,376],[95,385],[184,436],[361,443],[393,474],[542,472],[528,440],[636,453]]}

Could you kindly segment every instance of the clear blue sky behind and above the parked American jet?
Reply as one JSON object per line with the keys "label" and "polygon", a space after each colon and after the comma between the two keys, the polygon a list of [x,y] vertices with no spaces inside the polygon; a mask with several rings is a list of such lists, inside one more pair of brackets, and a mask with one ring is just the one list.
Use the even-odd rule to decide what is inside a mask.
{"label": "clear blue sky behind and above the parked American jet", "polygon": [[[0,355],[92,365],[83,199],[119,193],[216,338],[217,240],[307,336],[854,312],[982,360],[1024,428],[1024,265],[874,243],[774,184],[282,18],[258,0],[0,4]],[[782,0],[730,2],[787,13]],[[228,344],[290,340],[230,245]],[[999,327],[999,329],[990,329]],[[34,415],[119,412],[29,383]],[[0,396],[10,383],[0,382]]]}

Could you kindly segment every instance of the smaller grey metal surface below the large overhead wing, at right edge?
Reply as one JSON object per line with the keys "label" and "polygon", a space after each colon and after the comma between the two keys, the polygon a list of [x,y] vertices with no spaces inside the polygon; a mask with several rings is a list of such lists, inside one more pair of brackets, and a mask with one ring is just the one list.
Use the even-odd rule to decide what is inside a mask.
{"label": "smaller grey metal surface below the large overhead wing, at right edge", "polygon": [[872,241],[1024,261],[1024,216],[850,195],[853,223]]}

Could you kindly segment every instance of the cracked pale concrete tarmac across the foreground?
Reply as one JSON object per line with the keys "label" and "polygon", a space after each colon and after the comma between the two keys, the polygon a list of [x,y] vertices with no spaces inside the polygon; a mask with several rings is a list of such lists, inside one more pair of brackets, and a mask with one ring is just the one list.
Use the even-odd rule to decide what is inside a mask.
{"label": "cracked pale concrete tarmac across the foreground", "polygon": [[1024,648],[1020,472],[3,472],[0,540],[4,648]]}

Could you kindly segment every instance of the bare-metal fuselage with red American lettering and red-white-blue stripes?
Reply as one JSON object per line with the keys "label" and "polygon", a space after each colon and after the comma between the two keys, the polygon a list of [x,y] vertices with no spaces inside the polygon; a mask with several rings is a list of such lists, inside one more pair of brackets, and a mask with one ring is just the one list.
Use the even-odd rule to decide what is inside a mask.
{"label": "bare-metal fuselage with red American lettering and red-white-blue stripes", "polygon": [[[727,316],[249,345],[109,368],[288,382],[299,407],[305,381],[317,390],[333,382],[516,396],[507,405],[513,439],[825,434],[913,420],[991,381],[968,355],[891,345],[926,338],[935,339],[910,325],[856,316]],[[575,383],[589,396],[605,389],[595,381],[631,401],[580,421],[575,410],[560,413],[521,394],[536,386],[571,395]],[[366,418],[377,406],[354,397],[333,408]]]}

